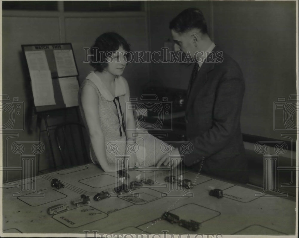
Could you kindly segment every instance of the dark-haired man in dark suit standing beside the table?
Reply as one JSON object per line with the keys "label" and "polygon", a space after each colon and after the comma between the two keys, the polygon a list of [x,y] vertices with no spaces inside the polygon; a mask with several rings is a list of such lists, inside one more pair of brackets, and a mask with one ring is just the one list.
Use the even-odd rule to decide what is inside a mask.
{"label": "dark-haired man in dark suit standing beside the table", "polygon": [[[182,11],[170,22],[175,51],[194,60],[186,106],[186,137],[193,151],[186,166],[201,172],[248,181],[247,160],[240,129],[245,83],[239,65],[208,36],[199,9]],[[187,78],[187,77],[186,77]],[[189,76],[188,76],[189,78]]]}

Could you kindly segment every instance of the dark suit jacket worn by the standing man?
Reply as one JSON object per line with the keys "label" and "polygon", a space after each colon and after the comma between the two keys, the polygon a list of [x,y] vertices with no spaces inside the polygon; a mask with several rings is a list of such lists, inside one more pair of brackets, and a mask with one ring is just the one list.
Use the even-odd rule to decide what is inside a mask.
{"label": "dark suit jacket worn by the standing man", "polygon": [[196,165],[204,158],[197,164],[198,168],[202,165],[202,171],[244,181],[247,161],[240,129],[243,75],[239,65],[219,47],[215,46],[210,56],[191,88],[189,84],[186,137],[194,148],[183,154],[184,163]]}

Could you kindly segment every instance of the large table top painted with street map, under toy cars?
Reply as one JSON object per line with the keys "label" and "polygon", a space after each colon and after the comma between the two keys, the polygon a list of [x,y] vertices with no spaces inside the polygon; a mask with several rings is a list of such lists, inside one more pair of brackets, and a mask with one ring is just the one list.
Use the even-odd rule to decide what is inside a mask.
{"label": "large table top painted with street map, under toy cars", "polygon": [[[166,176],[189,179],[187,190]],[[105,173],[94,164],[64,169],[45,175],[4,184],[3,233],[24,234],[239,234],[295,235],[295,201],[258,192],[203,176],[191,171],[168,168],[140,168],[129,171],[128,181],[150,178],[153,185],[143,184],[136,190],[119,195],[115,192],[123,179],[116,173]],[[52,179],[64,185],[51,187]],[[126,181],[125,181],[126,182]],[[223,190],[223,197],[209,195],[212,189]],[[110,198],[95,201],[98,192],[109,192]],[[72,203],[84,194],[90,203],[79,207]],[[57,214],[47,209],[57,204],[68,206]],[[180,219],[201,223],[190,231],[178,223],[161,219],[169,211]]]}

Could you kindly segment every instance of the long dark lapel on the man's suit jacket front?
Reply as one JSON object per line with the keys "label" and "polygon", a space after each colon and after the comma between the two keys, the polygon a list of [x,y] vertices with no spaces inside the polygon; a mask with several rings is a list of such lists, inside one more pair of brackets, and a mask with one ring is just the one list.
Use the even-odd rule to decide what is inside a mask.
{"label": "long dark lapel on the man's suit jacket front", "polygon": [[[216,47],[214,48],[213,51],[215,51]],[[211,54],[213,54],[212,62],[214,62],[215,53],[211,53]],[[205,61],[202,64],[202,66],[200,67],[199,72],[197,73],[196,78],[195,78],[191,88],[190,88],[190,82],[189,82],[189,87],[188,87],[188,91],[187,91],[187,92],[189,92],[189,96],[188,96],[188,100],[187,100],[186,112],[189,111],[194,98],[196,97],[196,95],[198,94],[198,92],[200,91],[202,86],[205,84],[205,82],[207,81],[208,72],[210,72],[214,68],[214,64],[215,63],[207,63]],[[191,78],[192,78],[192,75],[191,75]]]}

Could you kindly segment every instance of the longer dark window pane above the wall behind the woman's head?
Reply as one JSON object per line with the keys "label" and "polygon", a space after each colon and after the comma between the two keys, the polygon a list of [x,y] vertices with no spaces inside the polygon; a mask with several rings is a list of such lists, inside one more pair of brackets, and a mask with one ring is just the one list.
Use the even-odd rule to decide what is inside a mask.
{"label": "longer dark window pane above the wall behind the woman's head", "polygon": [[64,1],[66,12],[141,11],[142,1]]}

